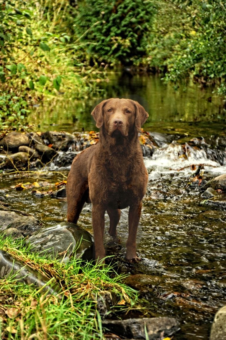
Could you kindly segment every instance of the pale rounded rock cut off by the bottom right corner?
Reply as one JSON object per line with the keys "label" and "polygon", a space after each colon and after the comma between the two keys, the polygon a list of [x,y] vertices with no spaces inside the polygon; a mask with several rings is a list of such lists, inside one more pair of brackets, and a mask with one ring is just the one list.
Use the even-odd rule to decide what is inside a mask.
{"label": "pale rounded rock cut off by the bottom right corner", "polygon": [[226,306],[216,312],[211,331],[210,340],[226,340]]}

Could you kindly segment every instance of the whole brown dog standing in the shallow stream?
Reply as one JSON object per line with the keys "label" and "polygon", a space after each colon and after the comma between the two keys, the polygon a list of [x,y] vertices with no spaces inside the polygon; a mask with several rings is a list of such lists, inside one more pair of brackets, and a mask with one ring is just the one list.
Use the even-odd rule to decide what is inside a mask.
{"label": "whole brown dog standing in the shallow stream", "polygon": [[136,261],[136,232],[148,181],[138,130],[148,114],[136,101],[112,98],[91,115],[100,129],[99,142],[73,160],[67,181],[68,221],[77,223],[84,202],[91,201],[95,258],[100,260],[105,256],[105,211],[109,234],[116,235],[120,209],[129,206],[126,258]]}

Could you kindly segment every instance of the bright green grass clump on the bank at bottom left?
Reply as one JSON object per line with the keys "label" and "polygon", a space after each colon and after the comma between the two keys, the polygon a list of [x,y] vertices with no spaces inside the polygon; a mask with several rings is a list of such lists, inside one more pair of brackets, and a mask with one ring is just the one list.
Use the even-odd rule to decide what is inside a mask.
{"label": "bright green grass clump on the bank at bottom left", "polygon": [[61,263],[32,253],[23,240],[0,236],[0,249],[48,276],[61,286],[58,295],[18,282],[11,276],[1,280],[1,339],[103,339],[97,297],[104,292],[117,296],[111,313],[135,307],[137,294],[122,283],[111,266],[82,264],[80,259]]}

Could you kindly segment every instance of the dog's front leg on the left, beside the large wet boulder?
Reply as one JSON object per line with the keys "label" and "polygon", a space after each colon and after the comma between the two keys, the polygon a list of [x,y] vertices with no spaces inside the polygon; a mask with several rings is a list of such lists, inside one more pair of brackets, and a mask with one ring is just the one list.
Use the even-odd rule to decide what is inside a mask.
{"label": "dog's front leg on the left, beside the large wet boulder", "polygon": [[105,228],[105,210],[101,204],[92,205],[92,223],[95,246],[95,259],[101,262],[105,257],[105,249],[103,247],[103,231]]}

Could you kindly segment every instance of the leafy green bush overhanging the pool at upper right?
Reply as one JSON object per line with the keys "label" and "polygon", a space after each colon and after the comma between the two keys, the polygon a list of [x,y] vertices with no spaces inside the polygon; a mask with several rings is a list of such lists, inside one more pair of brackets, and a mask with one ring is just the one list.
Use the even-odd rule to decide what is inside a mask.
{"label": "leafy green bush overhanging the pool at upper right", "polygon": [[164,69],[165,80],[192,75],[205,86],[218,83],[226,94],[226,6],[221,0],[158,1],[149,41],[149,65]]}

